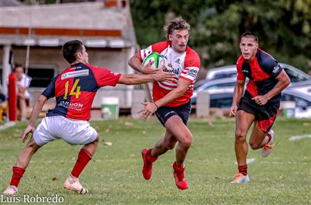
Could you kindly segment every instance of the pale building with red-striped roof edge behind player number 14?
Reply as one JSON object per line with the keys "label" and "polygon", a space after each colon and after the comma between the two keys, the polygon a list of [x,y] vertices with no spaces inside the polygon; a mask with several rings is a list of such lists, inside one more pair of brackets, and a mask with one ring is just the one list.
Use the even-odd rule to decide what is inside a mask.
{"label": "pale building with red-striped roof edge behind player number 14", "polygon": [[[117,73],[133,72],[127,63],[136,46],[128,1],[2,5],[0,9],[2,87],[7,92],[6,79],[12,64],[26,66],[26,73],[32,77],[31,107],[50,80],[68,67],[61,52],[68,40],[82,40],[94,66]],[[132,91],[133,86],[120,84],[117,89],[104,87],[97,92],[92,107],[99,108],[106,96],[116,96],[120,106],[129,107]],[[55,99],[50,100],[53,102]]]}

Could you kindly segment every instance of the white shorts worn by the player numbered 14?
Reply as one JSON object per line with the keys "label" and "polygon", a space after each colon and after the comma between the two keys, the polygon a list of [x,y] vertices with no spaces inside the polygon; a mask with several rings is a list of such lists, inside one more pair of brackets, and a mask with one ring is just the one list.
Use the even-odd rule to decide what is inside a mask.
{"label": "white shorts worn by the player numbered 14", "polygon": [[95,141],[97,132],[88,121],[50,116],[43,118],[32,136],[39,146],[61,138],[71,145],[86,145]]}

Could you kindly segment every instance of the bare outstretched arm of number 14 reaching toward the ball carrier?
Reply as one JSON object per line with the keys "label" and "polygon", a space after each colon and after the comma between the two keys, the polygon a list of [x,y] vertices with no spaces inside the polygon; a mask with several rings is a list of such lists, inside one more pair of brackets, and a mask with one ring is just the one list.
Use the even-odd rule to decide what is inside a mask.
{"label": "bare outstretched arm of number 14 reaching toward the ball carrier", "polygon": [[124,74],[121,75],[119,84],[141,84],[145,82],[176,80],[175,73],[167,73],[163,71],[164,68],[158,69],[154,74],[141,75],[141,74]]}

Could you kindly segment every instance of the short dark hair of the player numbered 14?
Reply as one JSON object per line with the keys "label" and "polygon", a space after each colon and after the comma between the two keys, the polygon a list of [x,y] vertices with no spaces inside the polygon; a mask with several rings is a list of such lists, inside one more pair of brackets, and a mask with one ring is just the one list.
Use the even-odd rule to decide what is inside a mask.
{"label": "short dark hair of the player numbered 14", "polygon": [[62,53],[66,61],[70,64],[77,60],[77,53],[83,51],[83,43],[79,40],[66,42],[62,48]]}

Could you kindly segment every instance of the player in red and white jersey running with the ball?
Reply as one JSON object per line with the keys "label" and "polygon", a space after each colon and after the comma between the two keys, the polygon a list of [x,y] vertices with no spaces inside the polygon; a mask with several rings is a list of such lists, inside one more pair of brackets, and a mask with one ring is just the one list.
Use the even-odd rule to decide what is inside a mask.
{"label": "player in red and white jersey running with the ball", "polygon": [[167,150],[175,148],[178,142],[173,177],[180,189],[188,188],[184,161],[192,143],[192,134],[187,128],[187,121],[191,112],[190,98],[200,69],[200,57],[187,46],[189,29],[189,24],[181,18],[169,21],[166,26],[167,42],[153,44],[129,60],[129,65],[136,71],[154,73],[157,69],[148,64],[142,66],[142,61],[150,53],[158,52],[164,57],[164,71],[178,76],[177,80],[153,82],[153,103],[143,103],[144,109],[140,113],[142,118],[149,118],[155,112],[166,128],[164,136],[153,148],[142,150],[144,179],[150,179],[152,163]]}

